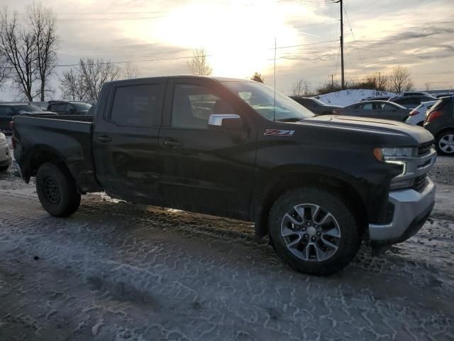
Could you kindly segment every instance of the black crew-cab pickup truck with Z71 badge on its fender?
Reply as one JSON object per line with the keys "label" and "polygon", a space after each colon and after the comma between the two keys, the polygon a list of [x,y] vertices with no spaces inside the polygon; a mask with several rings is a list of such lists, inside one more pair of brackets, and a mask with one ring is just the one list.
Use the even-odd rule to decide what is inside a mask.
{"label": "black crew-cab pickup truck with Z71 badge on its fender", "polygon": [[267,85],[155,77],[104,85],[94,121],[16,117],[14,156],[55,217],[81,194],[255,222],[298,271],[343,269],[431,213],[433,136],[419,126],[315,115]]}

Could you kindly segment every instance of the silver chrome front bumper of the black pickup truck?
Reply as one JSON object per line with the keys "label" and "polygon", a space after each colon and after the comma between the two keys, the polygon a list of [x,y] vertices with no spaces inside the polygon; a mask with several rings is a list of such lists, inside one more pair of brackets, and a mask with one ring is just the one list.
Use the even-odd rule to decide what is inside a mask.
{"label": "silver chrome front bumper of the black pickup truck", "polygon": [[369,237],[379,244],[404,242],[421,229],[435,203],[435,185],[427,178],[421,192],[407,188],[389,192],[389,202],[394,205],[392,222],[369,224]]}

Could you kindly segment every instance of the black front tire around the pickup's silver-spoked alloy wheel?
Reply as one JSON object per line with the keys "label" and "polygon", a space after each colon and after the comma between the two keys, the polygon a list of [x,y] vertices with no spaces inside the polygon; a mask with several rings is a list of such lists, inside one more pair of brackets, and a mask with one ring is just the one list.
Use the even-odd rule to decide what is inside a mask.
{"label": "black front tire around the pickup's silver-spoked alloy wheel", "polygon": [[[296,215],[298,219],[306,222],[301,225],[296,225],[295,229],[298,230],[299,239],[296,238],[294,241],[289,242],[288,238],[294,237],[294,235],[282,237],[281,229],[283,231],[284,229],[287,232],[289,231],[289,229],[283,227],[287,226],[286,224],[288,223],[288,218],[284,218],[284,216],[286,216],[286,213],[292,212],[294,207],[299,207],[299,210],[303,210],[302,212],[311,211],[311,209],[306,211],[306,209],[309,208],[307,205],[311,207],[319,206],[319,210],[315,211],[318,212],[316,215],[324,215],[324,212],[331,213],[329,218],[330,222],[328,223],[329,226],[326,225],[327,223],[323,222],[321,222],[320,225],[317,225],[316,221],[321,221],[317,216],[312,218],[313,227],[307,227],[306,224],[308,222],[310,224],[311,220],[306,220],[306,217]],[[296,214],[297,211],[294,210],[294,212]],[[311,214],[312,213],[310,213],[310,215]],[[306,215],[306,213],[304,213],[304,215]],[[331,219],[331,217],[334,217],[334,219]],[[274,243],[277,254],[279,254],[279,256],[293,269],[303,272],[304,274],[327,276],[341,271],[358,253],[362,240],[362,229],[360,224],[355,218],[352,210],[345,205],[345,200],[342,199],[341,195],[322,190],[321,188],[297,188],[284,193],[272,206],[268,223],[270,238]],[[293,224],[291,225],[293,226]],[[339,237],[333,238],[326,232],[326,229],[333,231],[332,226],[335,226],[336,230],[339,230]],[[319,230],[314,227],[318,227]],[[303,236],[302,233],[305,232],[301,232],[301,229],[304,229],[304,231],[307,232],[311,229],[310,232],[312,237],[305,237],[309,234],[304,234]],[[314,232],[314,230],[316,232]],[[317,231],[321,231],[321,237],[318,237],[319,232]],[[309,240],[311,238],[317,239],[314,242],[311,242]],[[328,245],[324,244],[322,241],[326,239],[332,242],[331,245],[336,244],[337,249],[328,247]],[[334,240],[335,242],[333,242]],[[290,248],[287,247],[287,244],[298,246]],[[304,245],[308,244],[312,245],[304,247]],[[316,247],[316,244],[321,246]],[[322,251],[321,249],[323,248],[325,250]],[[293,251],[290,251],[290,249]],[[304,253],[308,256],[307,259],[303,259],[304,253],[299,251],[299,249],[305,250]],[[328,249],[328,251],[326,251],[326,249]],[[331,254],[331,256],[328,256],[327,259],[320,257],[321,260],[319,260],[319,252],[325,256],[329,254]],[[300,254],[302,257],[295,255],[295,253]],[[312,257],[314,253],[317,259]]]}

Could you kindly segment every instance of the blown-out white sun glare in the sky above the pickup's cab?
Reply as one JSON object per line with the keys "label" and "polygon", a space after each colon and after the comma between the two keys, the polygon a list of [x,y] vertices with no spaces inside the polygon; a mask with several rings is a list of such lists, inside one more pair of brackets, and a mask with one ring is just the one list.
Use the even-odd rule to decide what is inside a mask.
{"label": "blown-out white sun glare in the sky above the pickup's cab", "polygon": [[274,1],[260,1],[260,6],[244,1],[197,2],[173,9],[146,30],[129,28],[147,43],[187,48],[186,55],[204,48],[215,75],[248,77],[272,68],[275,37],[278,46],[301,43],[285,18]]}

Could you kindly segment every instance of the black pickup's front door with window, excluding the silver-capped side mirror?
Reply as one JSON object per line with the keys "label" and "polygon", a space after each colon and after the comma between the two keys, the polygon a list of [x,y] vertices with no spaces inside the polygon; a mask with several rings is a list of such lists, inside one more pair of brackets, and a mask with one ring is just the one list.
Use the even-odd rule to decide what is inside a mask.
{"label": "black pickup's front door with window, excluding the silver-capped side mirror", "polygon": [[[235,101],[226,99],[225,92],[214,80],[167,82],[160,130],[160,184],[168,207],[245,219],[250,208],[256,130]],[[211,129],[210,114],[238,114],[244,129]]]}

